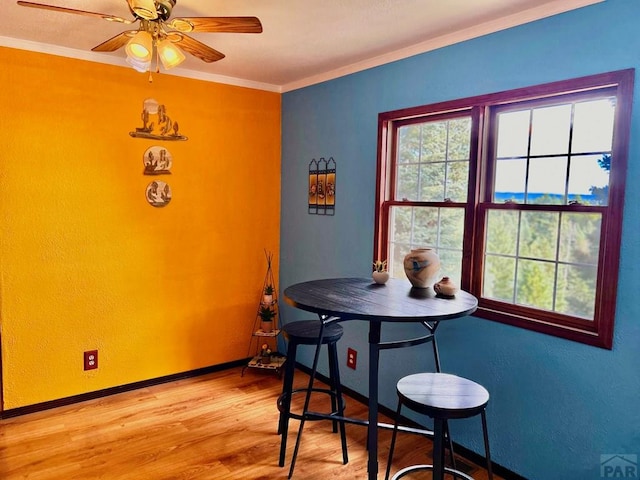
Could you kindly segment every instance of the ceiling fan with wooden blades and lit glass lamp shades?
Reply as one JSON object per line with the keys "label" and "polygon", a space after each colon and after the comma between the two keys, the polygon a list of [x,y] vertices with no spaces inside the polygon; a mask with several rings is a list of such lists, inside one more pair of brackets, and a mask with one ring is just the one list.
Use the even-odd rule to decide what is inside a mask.
{"label": "ceiling fan with wooden blades and lit glass lamp shades", "polygon": [[166,69],[173,68],[184,61],[185,56],[182,50],[207,63],[216,62],[225,57],[223,53],[188,36],[187,33],[262,32],[262,24],[256,17],[180,17],[170,19],[177,0],[126,0],[126,2],[133,14],[132,19],[34,2],[18,1],[18,5],[102,18],[125,25],[139,22],[137,30],[126,30],[119,33],[91,50],[94,52],[114,52],[125,47],[127,62],[140,72],[146,72],[150,69],[154,53],[157,68],[159,68],[157,64],[159,58]]}

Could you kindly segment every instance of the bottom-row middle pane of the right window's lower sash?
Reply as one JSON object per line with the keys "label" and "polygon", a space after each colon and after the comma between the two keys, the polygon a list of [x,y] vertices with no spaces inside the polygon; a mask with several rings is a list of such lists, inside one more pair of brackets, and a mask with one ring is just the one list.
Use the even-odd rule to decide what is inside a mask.
{"label": "bottom-row middle pane of the right window's lower sash", "polygon": [[555,264],[520,259],[517,276],[516,304],[553,310]]}

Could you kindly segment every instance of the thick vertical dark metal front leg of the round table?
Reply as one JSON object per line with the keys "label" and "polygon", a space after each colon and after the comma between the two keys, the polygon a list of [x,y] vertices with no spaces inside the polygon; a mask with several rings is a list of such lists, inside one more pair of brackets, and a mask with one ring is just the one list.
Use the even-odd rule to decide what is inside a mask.
{"label": "thick vertical dark metal front leg of the round table", "polygon": [[381,322],[369,322],[369,425],[367,450],[369,480],[378,478],[378,368],[380,360]]}

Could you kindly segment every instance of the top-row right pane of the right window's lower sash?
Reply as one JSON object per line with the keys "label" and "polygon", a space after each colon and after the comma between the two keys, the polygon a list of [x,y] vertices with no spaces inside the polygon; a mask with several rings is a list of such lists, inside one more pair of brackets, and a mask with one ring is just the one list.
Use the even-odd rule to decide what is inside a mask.
{"label": "top-row right pane of the right window's lower sash", "polygon": [[599,213],[563,213],[559,260],[566,263],[597,265],[600,252],[600,224]]}

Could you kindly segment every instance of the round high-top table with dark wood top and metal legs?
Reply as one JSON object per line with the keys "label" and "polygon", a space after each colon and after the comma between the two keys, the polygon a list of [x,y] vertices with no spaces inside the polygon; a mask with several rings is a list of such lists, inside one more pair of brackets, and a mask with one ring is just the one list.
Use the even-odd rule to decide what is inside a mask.
{"label": "round high-top table with dark wood top and metal legs", "polygon": [[[370,278],[330,278],[312,280],[287,287],[284,297],[290,305],[318,314],[322,325],[347,320],[369,322],[369,414],[367,425],[367,472],[369,480],[378,477],[378,366],[380,350],[401,348],[432,342],[436,370],[440,371],[435,330],[439,322],[451,320],[473,313],[478,300],[467,292],[459,291],[453,298],[436,295],[432,288],[414,288],[407,280],[391,278],[380,285]],[[407,340],[382,342],[382,323],[420,323],[428,334]],[[320,337],[314,357],[310,388],[318,367]],[[308,399],[307,399],[308,400]],[[308,401],[304,410],[308,409]],[[298,430],[296,450],[292,460],[291,473],[304,426],[304,416]]]}

